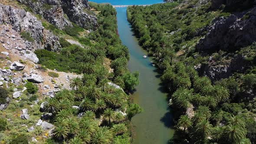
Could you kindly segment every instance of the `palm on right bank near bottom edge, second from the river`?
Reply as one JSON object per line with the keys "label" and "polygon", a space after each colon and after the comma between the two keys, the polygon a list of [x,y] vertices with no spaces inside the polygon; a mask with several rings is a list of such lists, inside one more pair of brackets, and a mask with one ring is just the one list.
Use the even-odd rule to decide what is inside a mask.
{"label": "palm on right bank near bottom edge, second from the river", "polygon": [[207,120],[202,120],[196,124],[195,128],[196,128],[197,134],[202,136],[203,140],[205,140],[206,137],[209,137],[211,135],[213,130],[213,125],[210,124],[210,122]]}

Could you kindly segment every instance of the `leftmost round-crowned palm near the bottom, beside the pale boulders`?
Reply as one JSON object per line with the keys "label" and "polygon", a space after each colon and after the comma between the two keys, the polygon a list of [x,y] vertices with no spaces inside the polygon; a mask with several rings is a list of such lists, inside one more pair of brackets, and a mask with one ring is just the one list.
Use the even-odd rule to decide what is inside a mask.
{"label": "leftmost round-crowned palm near the bottom, beside the pale boulders", "polygon": [[69,135],[68,132],[69,132],[68,128],[65,125],[60,124],[60,125],[55,125],[53,135],[57,139],[63,140],[63,139],[66,139],[66,137]]}

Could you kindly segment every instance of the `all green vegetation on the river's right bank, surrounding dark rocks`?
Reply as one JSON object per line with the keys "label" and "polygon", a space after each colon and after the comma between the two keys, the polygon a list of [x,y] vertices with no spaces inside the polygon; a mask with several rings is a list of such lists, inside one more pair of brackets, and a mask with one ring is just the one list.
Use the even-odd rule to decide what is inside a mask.
{"label": "all green vegetation on the river's right bank, surrounding dark rocks", "polygon": [[[236,52],[199,53],[195,47],[217,17],[228,17],[224,8],[212,11],[210,2],[154,4],[128,7],[127,16],[141,46],[154,56],[161,79],[171,98],[174,111],[174,144],[255,144],[256,116],[256,44]],[[225,6],[223,6],[225,7]],[[242,20],[248,19],[249,12]],[[226,79],[209,79],[201,68],[229,65],[236,56],[245,56],[243,70],[232,72]],[[251,96],[250,96],[251,95]]]}

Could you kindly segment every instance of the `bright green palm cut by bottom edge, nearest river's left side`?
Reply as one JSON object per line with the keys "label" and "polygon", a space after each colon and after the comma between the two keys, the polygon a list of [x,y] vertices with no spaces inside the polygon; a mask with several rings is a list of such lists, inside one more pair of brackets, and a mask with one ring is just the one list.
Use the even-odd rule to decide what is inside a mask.
{"label": "bright green palm cut by bottom edge, nearest river's left side", "polygon": [[112,139],[112,132],[104,126],[99,128],[99,131],[92,137],[92,144],[111,144]]}

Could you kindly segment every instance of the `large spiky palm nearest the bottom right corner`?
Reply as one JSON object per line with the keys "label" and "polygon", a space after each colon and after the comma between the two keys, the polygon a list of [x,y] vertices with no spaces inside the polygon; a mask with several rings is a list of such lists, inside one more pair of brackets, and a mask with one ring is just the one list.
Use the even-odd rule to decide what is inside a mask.
{"label": "large spiky palm nearest the bottom right corner", "polygon": [[240,141],[246,136],[246,129],[239,125],[229,124],[225,127],[225,136],[232,143],[240,143]]}

